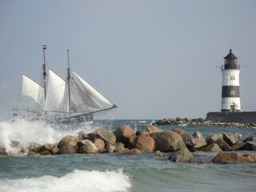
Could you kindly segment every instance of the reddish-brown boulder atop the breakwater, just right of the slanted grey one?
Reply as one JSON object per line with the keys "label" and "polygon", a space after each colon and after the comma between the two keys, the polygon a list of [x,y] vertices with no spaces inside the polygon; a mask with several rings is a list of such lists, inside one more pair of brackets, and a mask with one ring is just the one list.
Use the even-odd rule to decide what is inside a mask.
{"label": "reddish-brown boulder atop the breakwater, just right of the slanted grey one", "polygon": [[135,135],[134,130],[126,125],[118,127],[113,134],[117,138],[117,142],[122,142],[126,147],[129,146],[129,138]]}

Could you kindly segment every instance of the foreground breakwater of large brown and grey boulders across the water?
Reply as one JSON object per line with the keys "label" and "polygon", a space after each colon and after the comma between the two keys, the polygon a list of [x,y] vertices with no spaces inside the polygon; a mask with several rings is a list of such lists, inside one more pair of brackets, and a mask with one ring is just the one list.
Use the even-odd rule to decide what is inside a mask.
{"label": "foreground breakwater of large brown and grey boulders across the water", "polygon": [[[252,152],[240,154],[244,150]],[[31,143],[27,154],[153,153],[171,162],[231,163],[256,162],[255,150],[255,135],[243,140],[242,134],[238,133],[212,134],[204,138],[198,131],[191,135],[181,128],[162,130],[158,126],[149,125],[145,130],[135,132],[130,126],[123,125],[112,132],[104,128],[98,128],[90,134],[80,131],[77,135],[67,135],[58,143],[42,146]],[[200,160],[195,154],[198,151],[218,154],[213,159]],[[1,146],[0,155],[8,155]]]}

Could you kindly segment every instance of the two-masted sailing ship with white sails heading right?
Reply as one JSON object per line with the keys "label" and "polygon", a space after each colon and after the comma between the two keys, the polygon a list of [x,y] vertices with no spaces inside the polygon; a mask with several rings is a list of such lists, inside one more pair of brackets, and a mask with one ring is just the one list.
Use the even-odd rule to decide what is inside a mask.
{"label": "two-masted sailing ship with white sails heading right", "polygon": [[[43,85],[22,75],[22,89],[14,115],[46,122],[92,122],[94,114],[118,107],[107,100],[88,82],[70,70],[70,50],[67,49],[67,77],[61,78],[53,70],[46,73],[46,44],[42,45]],[[73,74],[72,76],[70,74]],[[47,79],[46,79],[47,76]]]}

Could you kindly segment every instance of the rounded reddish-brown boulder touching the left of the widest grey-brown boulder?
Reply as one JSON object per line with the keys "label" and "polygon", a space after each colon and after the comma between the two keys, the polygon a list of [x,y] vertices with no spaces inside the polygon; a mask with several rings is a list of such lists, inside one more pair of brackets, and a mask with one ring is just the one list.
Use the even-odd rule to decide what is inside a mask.
{"label": "rounded reddish-brown boulder touching the left of the widest grey-brown boulder", "polygon": [[155,142],[154,139],[150,136],[145,136],[141,134],[136,139],[136,148],[138,150],[144,150],[145,152],[154,152]]}

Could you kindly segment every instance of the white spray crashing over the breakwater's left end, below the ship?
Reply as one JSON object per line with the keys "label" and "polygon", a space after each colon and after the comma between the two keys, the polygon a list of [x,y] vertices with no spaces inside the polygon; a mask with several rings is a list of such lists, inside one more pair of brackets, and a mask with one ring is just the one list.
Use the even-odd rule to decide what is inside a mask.
{"label": "white spray crashing over the breakwater's left end, below the ship", "polygon": [[[83,129],[82,129],[83,128]],[[50,125],[45,122],[29,122],[18,119],[13,122],[0,122],[0,146],[6,149],[8,154],[20,154],[21,150],[37,143],[58,143],[66,135],[78,135],[83,130],[85,133],[91,129],[88,127],[70,127]]]}

